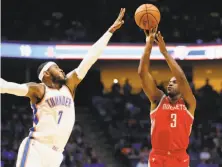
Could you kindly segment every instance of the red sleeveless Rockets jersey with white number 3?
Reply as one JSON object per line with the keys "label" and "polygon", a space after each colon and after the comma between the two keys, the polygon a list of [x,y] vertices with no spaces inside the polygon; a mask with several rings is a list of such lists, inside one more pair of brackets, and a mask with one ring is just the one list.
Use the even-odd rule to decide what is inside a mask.
{"label": "red sleeveless Rockets jersey with white number 3", "polygon": [[153,149],[173,151],[187,149],[193,116],[180,98],[171,104],[163,95],[157,108],[150,113]]}

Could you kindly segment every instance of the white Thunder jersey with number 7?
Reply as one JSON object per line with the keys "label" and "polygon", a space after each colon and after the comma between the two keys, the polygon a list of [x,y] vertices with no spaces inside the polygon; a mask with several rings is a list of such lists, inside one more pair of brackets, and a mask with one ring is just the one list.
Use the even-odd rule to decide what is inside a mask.
{"label": "white Thunder jersey with number 7", "polygon": [[31,105],[33,128],[30,137],[63,151],[75,123],[74,100],[66,85],[59,90],[45,88],[42,101]]}

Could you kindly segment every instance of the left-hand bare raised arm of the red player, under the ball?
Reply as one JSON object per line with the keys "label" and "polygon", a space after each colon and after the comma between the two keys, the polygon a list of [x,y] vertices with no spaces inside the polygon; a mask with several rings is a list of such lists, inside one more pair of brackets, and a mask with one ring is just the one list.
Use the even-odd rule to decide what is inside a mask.
{"label": "left-hand bare raised arm of the red player, under the ball", "polygon": [[146,34],[146,46],[144,49],[143,56],[140,59],[140,64],[138,68],[138,74],[140,76],[142,87],[144,92],[146,93],[147,97],[151,101],[151,103],[158,103],[163,96],[163,92],[159,90],[153,80],[153,77],[150,73],[150,54],[153,46],[153,41],[155,38],[156,30],[152,29],[148,33],[145,31]]}

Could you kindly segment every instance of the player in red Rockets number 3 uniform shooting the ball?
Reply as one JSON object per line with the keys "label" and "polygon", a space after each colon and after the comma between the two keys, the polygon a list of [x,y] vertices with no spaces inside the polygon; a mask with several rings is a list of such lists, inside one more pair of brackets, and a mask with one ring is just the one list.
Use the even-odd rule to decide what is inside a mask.
{"label": "player in red Rockets number 3 uniform shooting the ball", "polygon": [[[194,119],[196,99],[186,76],[177,62],[168,54],[160,32],[152,29],[146,34],[146,46],[138,73],[142,87],[151,102],[151,144],[149,167],[188,167],[186,149]],[[157,40],[155,40],[155,36]],[[159,90],[150,73],[150,53],[153,42],[159,46],[173,74],[165,95]]]}

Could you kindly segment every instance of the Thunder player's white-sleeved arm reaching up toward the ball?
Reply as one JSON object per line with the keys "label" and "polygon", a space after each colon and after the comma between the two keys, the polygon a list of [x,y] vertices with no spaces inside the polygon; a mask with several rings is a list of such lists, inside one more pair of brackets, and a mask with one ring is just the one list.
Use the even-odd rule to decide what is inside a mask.
{"label": "Thunder player's white-sleeved arm reaching up toward the ball", "polygon": [[80,65],[74,71],[71,71],[70,73],[67,74],[67,86],[71,90],[73,91],[75,90],[76,86],[85,77],[88,70],[102,54],[113,33],[123,25],[124,13],[125,13],[125,8],[121,8],[119,16],[116,19],[116,21],[113,23],[113,25],[96,43],[92,45],[92,47],[89,49],[87,55],[84,57]]}

